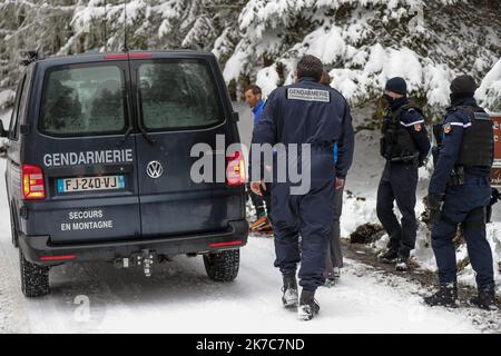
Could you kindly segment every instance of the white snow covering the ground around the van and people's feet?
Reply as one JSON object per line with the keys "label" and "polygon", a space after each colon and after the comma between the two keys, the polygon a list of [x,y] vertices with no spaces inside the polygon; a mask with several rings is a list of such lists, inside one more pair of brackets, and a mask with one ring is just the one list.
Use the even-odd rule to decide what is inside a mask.
{"label": "white snow covering the ground around the van and people's feet", "polygon": [[[240,125],[248,126],[245,107]],[[247,112],[247,113],[246,113]],[[248,115],[248,117],[246,116]],[[247,130],[243,137],[249,138]],[[245,140],[245,138],[244,138]],[[360,141],[360,140],[358,140]],[[343,228],[353,220],[374,219],[374,181],[379,176],[371,140],[357,141],[348,189],[369,200],[346,202]],[[367,145],[364,147],[364,145]],[[365,155],[364,155],[365,152]],[[367,158],[361,160],[362,156]],[[360,165],[366,161],[366,166]],[[365,167],[365,168],[364,168]],[[0,161],[0,171],[4,160]],[[353,206],[353,208],[350,208]],[[321,288],[322,310],[310,323],[295,319],[281,305],[281,276],[273,267],[268,238],[250,237],[242,249],[236,281],[216,284],[202,258],[179,256],[154,267],[153,277],[139,269],[108,264],[67,265],[51,270],[52,294],[26,299],[19,290],[18,253],[10,243],[4,181],[0,179],[0,333],[477,333],[470,308],[428,308],[428,293],[397,276],[386,276],[354,260],[346,261],[341,284]],[[489,314],[489,317],[499,314]]]}

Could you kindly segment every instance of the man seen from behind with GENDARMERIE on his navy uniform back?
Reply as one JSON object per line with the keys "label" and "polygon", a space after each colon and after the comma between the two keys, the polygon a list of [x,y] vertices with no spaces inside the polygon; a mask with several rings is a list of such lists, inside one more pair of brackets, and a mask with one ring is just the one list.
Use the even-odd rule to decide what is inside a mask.
{"label": "man seen from behind with GENDARMERIE on his navy uniform back", "polygon": [[[345,178],[354,148],[350,108],[340,92],[320,83],[322,72],[318,58],[304,56],[297,63],[297,82],[271,93],[253,135],[253,144],[284,144],[287,156],[293,151],[289,145],[310,145],[311,185],[307,192],[294,195],[291,189],[294,184],[288,176],[285,182],[275,180],[272,190],[275,267],[279,268],[284,281],[282,300],[285,307],[297,306],[296,268],[301,261],[299,285],[303,290],[297,313],[303,320],[312,319],[320,310],[314,296],[317,287],[325,283],[325,254],[331,238],[335,178]],[[338,152],[336,164],[334,142]],[[259,165],[259,157],[253,154],[253,149],[250,171]],[[302,155],[299,151],[298,156]],[[303,157],[289,158],[288,165],[297,166],[294,167],[297,171],[305,169],[298,165]],[[250,187],[259,194],[263,182],[253,181]]]}

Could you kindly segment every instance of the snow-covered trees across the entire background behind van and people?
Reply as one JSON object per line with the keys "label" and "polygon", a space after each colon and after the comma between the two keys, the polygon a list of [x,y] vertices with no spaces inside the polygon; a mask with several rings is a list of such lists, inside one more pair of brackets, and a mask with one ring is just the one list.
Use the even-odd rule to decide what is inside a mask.
{"label": "snow-covered trees across the entire background behind van and people", "polygon": [[0,1],[0,105],[13,96],[21,50],[117,51],[127,32],[129,49],[213,51],[235,97],[250,81],[265,92],[291,82],[297,59],[313,53],[353,105],[376,98],[389,77],[403,76],[412,95],[438,112],[455,75],[472,73],[480,83],[492,70],[479,99],[499,109],[497,0],[126,2]]}

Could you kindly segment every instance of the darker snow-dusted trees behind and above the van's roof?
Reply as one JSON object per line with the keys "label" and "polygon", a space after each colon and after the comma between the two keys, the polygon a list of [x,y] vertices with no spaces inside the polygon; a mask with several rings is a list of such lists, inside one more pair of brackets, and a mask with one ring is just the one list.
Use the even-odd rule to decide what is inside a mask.
{"label": "darker snow-dusted trees behind and above the van's roof", "polygon": [[2,0],[0,106],[12,103],[23,50],[46,56],[119,51],[127,32],[129,49],[214,49],[224,61],[238,41],[233,29],[243,6],[232,0]]}

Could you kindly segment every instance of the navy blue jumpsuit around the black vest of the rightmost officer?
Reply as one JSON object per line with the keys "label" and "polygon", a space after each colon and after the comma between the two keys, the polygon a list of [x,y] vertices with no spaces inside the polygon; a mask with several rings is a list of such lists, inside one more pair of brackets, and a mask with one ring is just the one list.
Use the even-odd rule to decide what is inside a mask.
{"label": "navy blue jumpsuit around the black vest of the rightmost officer", "polygon": [[[473,98],[455,106],[477,106]],[[456,260],[453,238],[461,224],[466,240],[468,255],[477,273],[479,287],[494,284],[492,251],[485,238],[485,207],[491,197],[491,167],[464,167],[465,184],[448,185],[458,160],[463,132],[471,127],[466,112],[456,110],[444,118],[444,134],[439,160],[430,181],[429,194],[445,194],[440,221],[432,228],[432,247],[439,267],[441,284],[456,283]]]}

